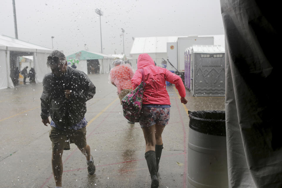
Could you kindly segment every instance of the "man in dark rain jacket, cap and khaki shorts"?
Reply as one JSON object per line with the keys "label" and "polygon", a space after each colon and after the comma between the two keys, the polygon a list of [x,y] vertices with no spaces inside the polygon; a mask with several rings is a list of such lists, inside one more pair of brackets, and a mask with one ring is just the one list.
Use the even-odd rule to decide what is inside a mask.
{"label": "man in dark rain jacket, cap and khaki shorts", "polygon": [[[45,126],[51,125],[49,137],[52,141],[52,168],[57,187],[62,187],[62,154],[70,149],[70,143],[77,145],[86,156],[88,173],[95,173],[90,146],[86,144],[86,101],[93,98],[95,86],[80,70],[67,65],[66,56],[53,51],[47,59],[52,73],[43,78],[41,95],[41,118]],[[49,121],[51,116],[51,122]]]}

